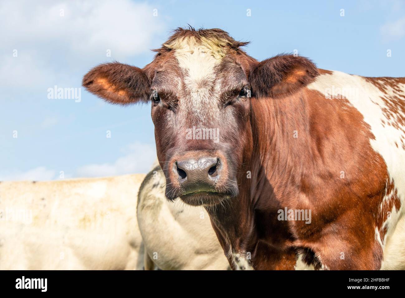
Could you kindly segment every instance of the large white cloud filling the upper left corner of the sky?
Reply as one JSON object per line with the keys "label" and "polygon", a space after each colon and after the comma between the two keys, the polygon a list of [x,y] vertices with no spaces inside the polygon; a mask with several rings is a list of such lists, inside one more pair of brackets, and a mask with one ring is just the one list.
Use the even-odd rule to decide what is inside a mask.
{"label": "large white cloud filling the upper left corner of the sky", "polygon": [[162,22],[152,6],[130,0],[9,0],[0,2],[0,28],[0,84],[33,87],[55,76],[69,79],[66,69],[83,61],[92,65],[148,51]]}

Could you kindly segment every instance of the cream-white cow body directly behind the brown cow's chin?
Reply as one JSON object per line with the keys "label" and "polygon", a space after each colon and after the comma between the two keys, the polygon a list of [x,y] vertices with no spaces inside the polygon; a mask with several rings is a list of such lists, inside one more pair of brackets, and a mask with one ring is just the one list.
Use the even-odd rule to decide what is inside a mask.
{"label": "cream-white cow body directly behind the brown cow's chin", "polygon": [[203,207],[164,197],[160,166],[145,178],[138,195],[138,223],[145,245],[145,269],[227,270],[229,263]]}

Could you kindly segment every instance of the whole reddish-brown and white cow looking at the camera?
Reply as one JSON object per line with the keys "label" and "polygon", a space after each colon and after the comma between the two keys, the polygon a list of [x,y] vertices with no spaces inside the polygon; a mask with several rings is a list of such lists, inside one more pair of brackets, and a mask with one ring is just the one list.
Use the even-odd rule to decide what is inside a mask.
{"label": "whole reddish-brown and white cow looking at the camera", "polygon": [[245,44],[179,28],[143,69],[101,64],[83,86],[151,102],[166,197],[206,208],[233,269],[403,268],[405,78]]}

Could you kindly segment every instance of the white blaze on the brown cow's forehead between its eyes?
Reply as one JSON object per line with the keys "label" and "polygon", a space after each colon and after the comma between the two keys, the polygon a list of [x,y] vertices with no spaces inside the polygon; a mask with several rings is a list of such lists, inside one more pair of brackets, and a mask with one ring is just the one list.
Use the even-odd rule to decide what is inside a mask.
{"label": "white blaze on the brown cow's forehead between its eyes", "polygon": [[[180,109],[194,117],[196,124],[203,124],[218,110],[217,92],[213,92],[215,66],[224,57],[221,41],[186,37],[166,45],[174,49],[174,56],[184,73],[184,89],[179,92]],[[215,88],[216,89],[216,88]]]}

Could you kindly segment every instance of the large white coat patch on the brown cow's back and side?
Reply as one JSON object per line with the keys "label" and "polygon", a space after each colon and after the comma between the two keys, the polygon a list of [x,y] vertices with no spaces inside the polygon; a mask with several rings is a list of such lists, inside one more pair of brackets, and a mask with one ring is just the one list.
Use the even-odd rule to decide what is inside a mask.
{"label": "large white coat patch on the brown cow's back and side", "polygon": [[[382,83],[384,84],[383,81]],[[326,92],[333,93],[328,94],[331,96],[339,96],[339,92],[341,94],[342,90],[345,90],[345,98],[363,115],[364,122],[371,127],[371,133],[375,136],[375,139],[370,139],[371,147],[384,158],[390,180],[394,182],[397,194],[401,200],[400,210],[396,210],[394,206],[391,210],[391,216],[384,223],[388,227],[384,239],[377,241],[384,248],[384,244],[394,232],[396,223],[405,213],[405,208],[403,207],[405,204],[405,150],[401,146],[401,138],[404,137],[403,131],[405,131],[405,127],[396,121],[395,116],[391,117],[391,119],[386,117],[383,111],[384,109],[390,110],[390,107],[387,107],[383,99],[390,102],[390,96],[404,96],[405,85],[398,84],[396,86],[397,90],[394,90],[392,87],[384,84],[386,92],[382,92],[364,77],[333,71],[331,75],[324,74],[318,76],[317,80],[310,84],[308,88],[317,90],[322,94]],[[385,125],[382,124],[382,120],[386,123]],[[398,128],[388,125],[388,123],[393,122],[395,125],[398,125]],[[391,198],[392,193],[387,193],[383,202]],[[377,232],[376,234],[378,235],[376,237],[379,237],[379,233]]]}

